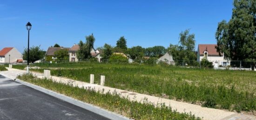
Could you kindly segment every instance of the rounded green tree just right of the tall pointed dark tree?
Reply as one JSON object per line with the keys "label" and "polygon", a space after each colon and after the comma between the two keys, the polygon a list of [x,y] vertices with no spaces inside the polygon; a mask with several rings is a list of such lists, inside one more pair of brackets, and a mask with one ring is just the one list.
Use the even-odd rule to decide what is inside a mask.
{"label": "rounded green tree just right of the tall pointed dark tree", "polygon": [[145,49],[141,46],[135,46],[132,48],[128,48],[127,53],[130,55],[132,59],[141,58],[144,56]]}

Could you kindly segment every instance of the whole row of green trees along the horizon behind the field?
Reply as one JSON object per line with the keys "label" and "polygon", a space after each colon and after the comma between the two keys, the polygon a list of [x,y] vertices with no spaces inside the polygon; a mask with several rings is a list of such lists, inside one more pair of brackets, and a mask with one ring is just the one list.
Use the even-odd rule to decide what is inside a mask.
{"label": "whole row of green trees along the horizon behind the field", "polygon": [[[216,29],[216,50],[224,53],[229,60],[255,61],[256,60],[256,1],[255,0],[234,0],[232,18],[227,22],[222,20]],[[93,48],[95,38],[91,34],[86,36],[86,41],[80,41],[80,50],[77,52],[80,60],[90,59],[90,51]],[[56,45],[56,44],[55,44]],[[54,46],[55,46],[54,45]],[[56,45],[58,47],[58,45]],[[170,44],[168,48],[163,46],[153,46],[143,48],[141,46],[127,47],[127,39],[122,36],[116,41],[116,45],[104,44],[97,48],[103,51],[101,57],[109,59],[114,52],[121,52],[129,55],[132,59],[141,59],[142,57],[161,57],[166,52],[171,54],[174,60],[196,60],[195,34],[190,34],[189,29],[179,34],[179,43]],[[40,46],[32,47],[31,60],[42,59],[45,51],[40,50]],[[34,55],[33,55],[34,54]],[[63,50],[56,53],[56,56],[63,58],[68,56],[68,51]],[[23,52],[23,59],[27,58],[27,49]],[[189,63],[188,64],[193,64]]]}

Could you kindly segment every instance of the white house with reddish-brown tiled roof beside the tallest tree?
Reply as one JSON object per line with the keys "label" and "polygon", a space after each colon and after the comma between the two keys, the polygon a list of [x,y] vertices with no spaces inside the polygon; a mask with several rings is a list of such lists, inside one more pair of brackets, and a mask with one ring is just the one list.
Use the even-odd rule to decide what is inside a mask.
{"label": "white house with reddish-brown tiled roof beside the tallest tree", "polygon": [[229,61],[225,59],[224,53],[219,54],[216,49],[217,44],[198,44],[197,49],[197,61],[202,61],[202,58],[206,58],[212,62],[214,67],[227,66]]}

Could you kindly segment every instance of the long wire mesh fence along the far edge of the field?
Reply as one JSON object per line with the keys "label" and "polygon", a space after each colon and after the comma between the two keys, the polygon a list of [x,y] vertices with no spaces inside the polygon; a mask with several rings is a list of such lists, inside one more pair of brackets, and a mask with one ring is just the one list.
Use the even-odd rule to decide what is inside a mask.
{"label": "long wire mesh fence along the far edge of the field", "polygon": [[[121,63],[121,64],[148,64],[148,65],[164,65],[164,66],[179,66],[184,68],[213,68],[213,69],[230,69],[230,70],[256,70],[256,61],[229,61],[229,60],[219,60],[219,61],[209,61],[206,64],[202,61],[196,60],[173,60],[173,61],[159,61],[157,59],[87,59],[79,61],[80,63]],[[41,63],[70,63],[69,61],[42,61]],[[0,65],[5,65],[9,63],[0,63]],[[11,63],[11,64],[27,64],[27,63]],[[34,64],[34,63],[30,63]]]}

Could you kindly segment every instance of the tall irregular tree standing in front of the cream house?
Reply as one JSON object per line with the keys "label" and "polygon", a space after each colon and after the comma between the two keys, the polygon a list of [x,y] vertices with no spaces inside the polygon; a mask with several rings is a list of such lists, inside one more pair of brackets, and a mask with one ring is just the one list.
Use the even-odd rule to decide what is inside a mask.
{"label": "tall irregular tree standing in front of the cream house", "polygon": [[86,60],[91,58],[91,50],[93,49],[95,38],[93,34],[86,36],[85,38],[85,43],[80,41],[78,44],[79,50],[77,51],[77,58],[79,60]]}

